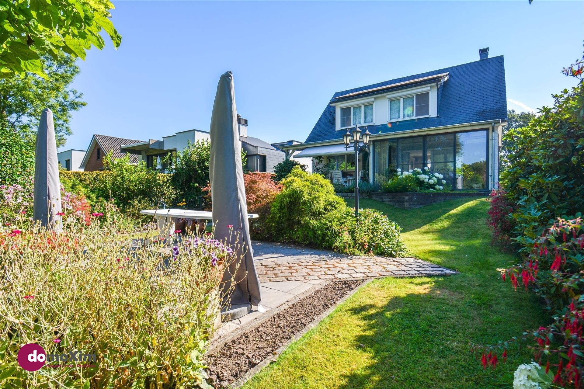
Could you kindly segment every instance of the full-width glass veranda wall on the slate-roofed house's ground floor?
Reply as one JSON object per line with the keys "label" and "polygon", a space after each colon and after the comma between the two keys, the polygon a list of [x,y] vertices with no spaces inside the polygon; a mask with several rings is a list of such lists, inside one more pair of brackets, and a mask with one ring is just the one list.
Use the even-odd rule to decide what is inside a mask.
{"label": "full-width glass veranda wall on the slate-roofed house's ground floor", "polygon": [[374,182],[383,183],[388,169],[428,166],[444,176],[444,189],[488,189],[488,130],[381,140],[372,148]]}

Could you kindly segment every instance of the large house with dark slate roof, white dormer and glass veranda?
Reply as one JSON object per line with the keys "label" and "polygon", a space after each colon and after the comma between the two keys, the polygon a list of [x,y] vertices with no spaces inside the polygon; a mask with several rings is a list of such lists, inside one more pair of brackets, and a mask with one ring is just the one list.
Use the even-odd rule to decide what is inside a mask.
{"label": "large house with dark slate roof, white dormer and glass veranda", "polygon": [[[371,135],[359,155],[363,179],[380,182],[387,168],[428,166],[446,189],[490,190],[499,180],[499,149],[507,120],[503,55],[336,92],[294,158],[354,175],[354,152],[342,136],[359,125]],[[327,165],[324,165],[327,164]]]}

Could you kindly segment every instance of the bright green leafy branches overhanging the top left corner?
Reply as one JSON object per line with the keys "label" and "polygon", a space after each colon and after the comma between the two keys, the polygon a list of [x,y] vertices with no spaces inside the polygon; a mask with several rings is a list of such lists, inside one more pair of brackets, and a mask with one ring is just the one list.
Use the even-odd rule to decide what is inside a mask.
{"label": "bright green leafy branches overhanging the top left corner", "polygon": [[121,36],[109,19],[109,0],[11,0],[0,2],[0,78],[34,73],[50,78],[47,55],[85,60],[91,46],[105,47],[102,29],[114,47]]}

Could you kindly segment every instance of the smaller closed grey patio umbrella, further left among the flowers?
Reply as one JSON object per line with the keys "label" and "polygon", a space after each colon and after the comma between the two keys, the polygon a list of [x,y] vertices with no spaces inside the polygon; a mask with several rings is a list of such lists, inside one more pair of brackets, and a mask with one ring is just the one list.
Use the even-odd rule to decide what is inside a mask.
{"label": "smaller closed grey patio umbrella, further left among the flowers", "polygon": [[34,152],[33,218],[41,225],[61,231],[61,183],[53,112],[46,108],[40,117]]}

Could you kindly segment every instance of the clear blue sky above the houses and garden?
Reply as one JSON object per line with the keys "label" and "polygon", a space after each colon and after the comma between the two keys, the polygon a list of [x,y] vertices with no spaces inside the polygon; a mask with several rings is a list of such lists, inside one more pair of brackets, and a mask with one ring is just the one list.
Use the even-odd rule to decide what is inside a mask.
{"label": "clear blue sky above the houses and garden", "polygon": [[60,150],[93,133],[147,140],[210,123],[231,70],[249,136],[304,141],[334,92],[505,55],[509,109],[551,105],[575,85],[560,73],[582,55],[584,2],[120,1],[123,39],[78,61],[74,112]]}

